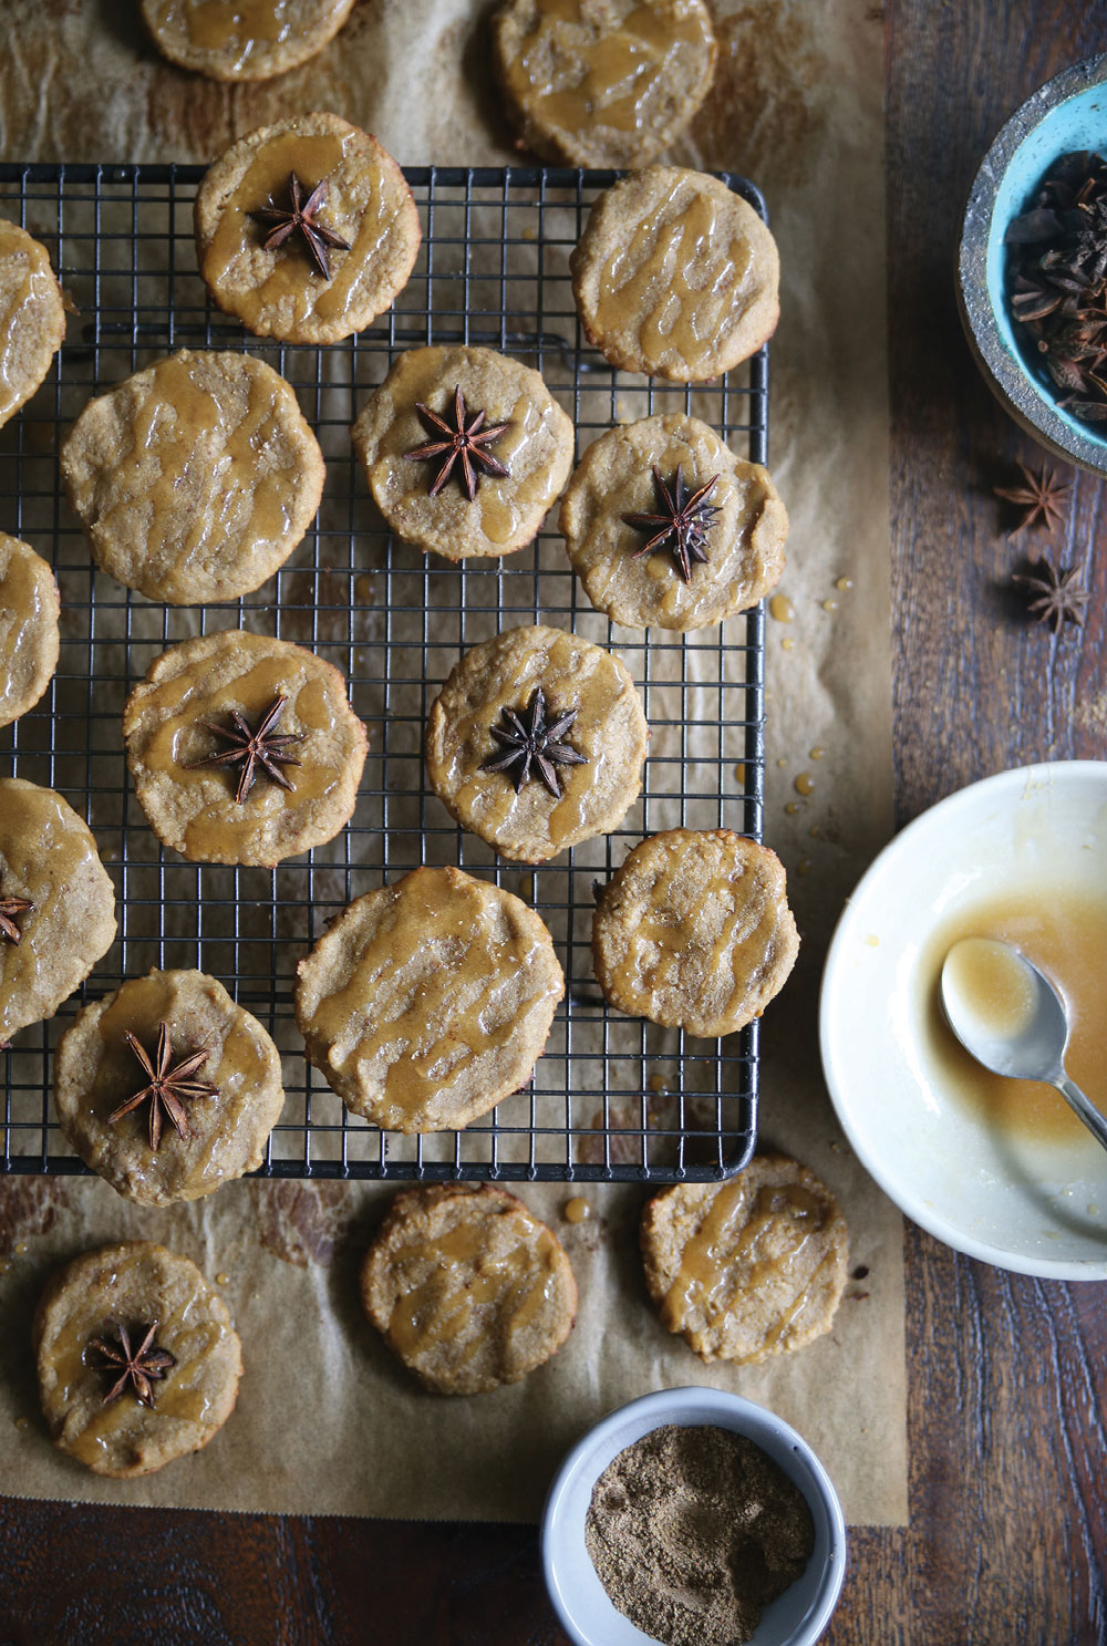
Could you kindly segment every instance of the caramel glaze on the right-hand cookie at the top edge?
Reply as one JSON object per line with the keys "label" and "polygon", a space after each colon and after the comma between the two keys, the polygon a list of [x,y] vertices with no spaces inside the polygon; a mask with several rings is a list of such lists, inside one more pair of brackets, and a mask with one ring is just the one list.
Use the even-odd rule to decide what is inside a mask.
{"label": "caramel glaze on the right-hand cookie at the top edge", "polygon": [[[639,132],[656,122],[670,77],[689,48],[710,63],[710,30],[700,12],[659,15],[638,5],[618,28],[590,23],[582,0],[539,0],[539,23],[525,53],[506,64],[516,102],[537,95],[535,115],[563,132],[603,125]],[[558,41],[555,25],[577,25]]]}

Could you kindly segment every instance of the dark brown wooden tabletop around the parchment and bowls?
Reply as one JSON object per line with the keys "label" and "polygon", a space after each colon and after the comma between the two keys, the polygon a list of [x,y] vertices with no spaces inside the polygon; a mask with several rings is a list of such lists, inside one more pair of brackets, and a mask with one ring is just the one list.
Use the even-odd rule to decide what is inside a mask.
{"label": "dark brown wooden tabletop around the parchment and bowls", "polygon": [[[814,0],[812,0],[814,3]],[[857,0],[860,5],[862,0]],[[894,0],[888,38],[899,821],[1007,765],[1107,756],[1104,487],[1076,479],[1082,635],[1026,625],[990,487],[1035,448],[957,324],[952,263],[1002,120],[1107,49],[1107,3]],[[858,324],[865,316],[858,314]],[[1107,1643],[1107,1287],[970,1262],[908,1230],[911,1524],[855,1529],[829,1646]],[[529,1527],[0,1503],[7,1643],[560,1646]]]}

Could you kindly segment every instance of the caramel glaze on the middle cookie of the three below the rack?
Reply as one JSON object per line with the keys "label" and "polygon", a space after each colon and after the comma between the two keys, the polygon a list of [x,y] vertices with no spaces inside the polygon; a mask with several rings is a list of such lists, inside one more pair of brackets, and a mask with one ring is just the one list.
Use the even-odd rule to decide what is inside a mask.
{"label": "caramel glaze on the middle cookie of the three below the rack", "polygon": [[460,1221],[437,1239],[395,1254],[400,1267],[432,1264],[427,1279],[397,1299],[389,1320],[389,1335],[405,1360],[450,1345],[451,1358],[465,1365],[488,1348],[489,1332],[507,1348],[552,1302],[557,1248],[547,1230],[537,1231],[534,1246],[512,1246],[499,1256],[486,1251],[486,1241],[479,1223]]}

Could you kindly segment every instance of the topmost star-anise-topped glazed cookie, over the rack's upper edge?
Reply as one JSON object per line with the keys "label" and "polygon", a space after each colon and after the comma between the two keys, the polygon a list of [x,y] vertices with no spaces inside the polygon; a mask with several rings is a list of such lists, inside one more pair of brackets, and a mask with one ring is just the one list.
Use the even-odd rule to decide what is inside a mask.
{"label": "topmost star-anise-topped glazed cookie, over the rack's upper edge", "polygon": [[196,193],[196,258],[213,301],[282,342],[364,331],[407,285],[420,239],[397,163],[336,114],[250,132]]}

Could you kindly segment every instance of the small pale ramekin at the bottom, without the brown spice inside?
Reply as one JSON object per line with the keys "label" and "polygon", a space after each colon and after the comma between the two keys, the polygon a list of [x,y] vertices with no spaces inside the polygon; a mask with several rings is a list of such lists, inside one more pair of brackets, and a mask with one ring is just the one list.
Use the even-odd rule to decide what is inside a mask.
{"label": "small pale ramekin at the bottom, without the brown spice inside", "polygon": [[814,1552],[791,1588],[766,1606],[751,1646],[814,1646],[845,1577],[845,1521],[830,1476],[782,1419],[738,1394],[697,1388],[644,1394],[610,1412],[578,1440],[550,1486],[542,1514],[542,1570],[573,1646],[654,1646],[608,1598],[585,1547],[585,1518],[608,1463],[666,1424],[733,1429],[759,1445],[804,1493],[815,1523]]}

